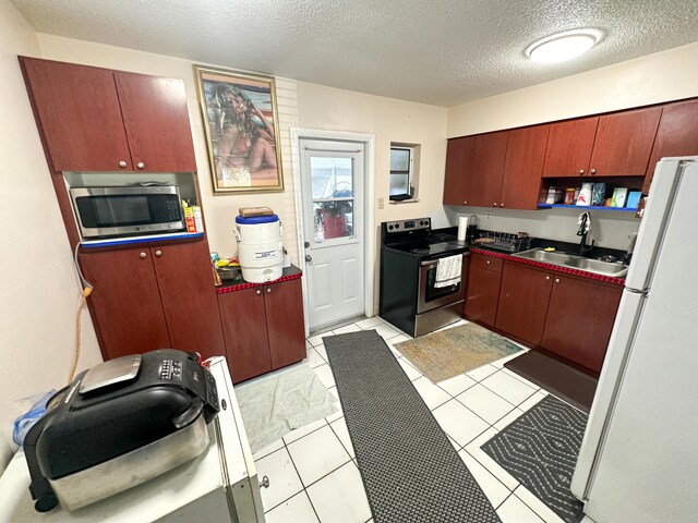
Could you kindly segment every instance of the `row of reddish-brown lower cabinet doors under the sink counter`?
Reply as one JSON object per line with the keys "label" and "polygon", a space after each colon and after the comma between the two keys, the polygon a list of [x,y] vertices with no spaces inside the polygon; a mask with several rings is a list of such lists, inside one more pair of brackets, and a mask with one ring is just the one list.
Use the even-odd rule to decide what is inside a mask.
{"label": "row of reddish-brown lower cabinet doors under the sink counter", "polygon": [[470,257],[468,319],[601,372],[622,287],[479,253]]}

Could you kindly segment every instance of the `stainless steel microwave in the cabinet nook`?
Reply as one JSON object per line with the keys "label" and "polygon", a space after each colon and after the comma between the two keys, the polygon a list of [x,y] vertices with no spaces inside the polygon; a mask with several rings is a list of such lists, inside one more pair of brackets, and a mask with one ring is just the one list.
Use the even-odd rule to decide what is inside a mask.
{"label": "stainless steel microwave in the cabinet nook", "polygon": [[186,230],[177,185],[71,187],[83,239]]}

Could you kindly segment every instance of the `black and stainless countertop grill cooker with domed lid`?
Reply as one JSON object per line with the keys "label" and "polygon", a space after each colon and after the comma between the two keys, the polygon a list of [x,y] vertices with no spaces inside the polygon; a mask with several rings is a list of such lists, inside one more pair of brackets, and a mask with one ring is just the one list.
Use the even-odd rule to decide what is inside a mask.
{"label": "black and stainless countertop grill cooker with domed lid", "polygon": [[217,412],[196,354],[163,349],[79,374],[24,440],[36,510],[80,509],[194,459]]}

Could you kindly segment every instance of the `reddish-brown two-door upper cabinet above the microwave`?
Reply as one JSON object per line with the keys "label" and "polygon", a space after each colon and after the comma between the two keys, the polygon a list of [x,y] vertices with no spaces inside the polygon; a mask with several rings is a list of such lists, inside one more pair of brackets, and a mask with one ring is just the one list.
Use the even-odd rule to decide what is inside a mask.
{"label": "reddish-brown two-door upper cabinet above the microwave", "polygon": [[194,172],[181,80],[20,57],[53,172]]}

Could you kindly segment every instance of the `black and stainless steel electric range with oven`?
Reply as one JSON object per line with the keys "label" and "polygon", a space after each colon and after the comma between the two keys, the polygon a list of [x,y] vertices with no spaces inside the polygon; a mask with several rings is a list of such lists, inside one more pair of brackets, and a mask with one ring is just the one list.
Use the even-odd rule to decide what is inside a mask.
{"label": "black and stainless steel electric range with oven", "polygon": [[[460,281],[435,287],[438,258],[455,254],[464,255]],[[465,242],[432,231],[430,218],[381,223],[381,317],[414,337],[459,320],[468,256]]]}

